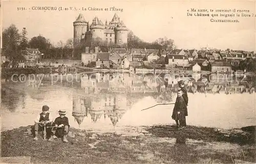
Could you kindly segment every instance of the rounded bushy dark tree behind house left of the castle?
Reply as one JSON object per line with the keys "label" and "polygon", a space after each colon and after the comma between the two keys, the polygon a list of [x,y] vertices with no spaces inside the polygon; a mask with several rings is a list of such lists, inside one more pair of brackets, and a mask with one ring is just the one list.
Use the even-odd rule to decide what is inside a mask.
{"label": "rounded bushy dark tree behind house left of the castle", "polygon": [[44,53],[45,58],[52,58],[52,54],[50,54],[50,48],[52,47],[52,44],[50,43],[49,39],[39,35],[31,38],[29,45],[31,48],[38,49],[41,53]]}

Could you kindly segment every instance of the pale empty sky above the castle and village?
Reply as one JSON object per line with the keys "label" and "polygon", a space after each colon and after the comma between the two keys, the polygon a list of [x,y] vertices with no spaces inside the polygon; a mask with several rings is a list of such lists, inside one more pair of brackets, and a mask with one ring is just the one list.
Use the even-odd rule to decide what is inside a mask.
{"label": "pale empty sky above the castle and village", "polygon": [[[41,6],[57,7],[57,10],[32,10]],[[18,7],[27,10],[18,11]],[[75,7],[77,11],[58,11],[59,7]],[[103,11],[89,11],[89,7],[102,8]],[[104,11],[111,7],[123,11]],[[126,27],[144,41],[167,37],[173,39],[179,49],[207,46],[256,52],[256,17],[231,18],[239,22],[211,22],[211,16],[187,16],[191,8],[249,10],[247,14],[256,14],[256,1],[3,1],[2,8],[3,29],[14,24],[21,32],[26,27],[29,38],[40,34],[55,45],[60,40],[66,42],[73,38],[73,21],[80,12],[89,23],[94,16],[102,22],[111,21],[117,13]]]}

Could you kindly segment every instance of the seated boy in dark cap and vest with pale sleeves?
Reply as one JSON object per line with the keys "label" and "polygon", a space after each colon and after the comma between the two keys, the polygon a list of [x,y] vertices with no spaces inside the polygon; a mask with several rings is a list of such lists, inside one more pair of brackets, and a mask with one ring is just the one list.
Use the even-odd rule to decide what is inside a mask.
{"label": "seated boy in dark cap and vest with pale sleeves", "polygon": [[42,130],[44,128],[44,124],[45,126],[52,126],[53,124],[53,119],[49,113],[49,106],[44,105],[42,106],[42,112],[37,116],[37,118],[35,119],[35,137],[34,140],[37,140],[37,136],[38,136],[38,130]]}

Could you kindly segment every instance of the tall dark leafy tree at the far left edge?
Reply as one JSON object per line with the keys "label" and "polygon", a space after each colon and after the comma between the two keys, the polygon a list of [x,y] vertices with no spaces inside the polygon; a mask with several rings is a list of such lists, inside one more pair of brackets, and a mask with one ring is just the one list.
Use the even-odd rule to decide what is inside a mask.
{"label": "tall dark leafy tree at the far left edge", "polygon": [[19,42],[20,34],[16,26],[12,24],[3,32],[3,54],[13,61],[13,64],[15,59],[20,55],[18,51]]}

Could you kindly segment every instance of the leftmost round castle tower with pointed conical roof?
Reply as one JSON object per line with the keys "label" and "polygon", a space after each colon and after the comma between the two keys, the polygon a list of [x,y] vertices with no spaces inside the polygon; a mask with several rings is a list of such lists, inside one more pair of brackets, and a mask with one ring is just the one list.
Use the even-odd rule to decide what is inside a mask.
{"label": "leftmost round castle tower with pointed conical roof", "polygon": [[77,45],[81,38],[86,34],[88,22],[84,19],[83,15],[80,13],[76,21],[73,22],[74,26],[74,46]]}

